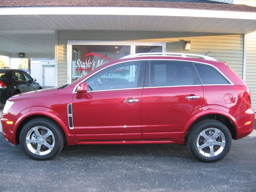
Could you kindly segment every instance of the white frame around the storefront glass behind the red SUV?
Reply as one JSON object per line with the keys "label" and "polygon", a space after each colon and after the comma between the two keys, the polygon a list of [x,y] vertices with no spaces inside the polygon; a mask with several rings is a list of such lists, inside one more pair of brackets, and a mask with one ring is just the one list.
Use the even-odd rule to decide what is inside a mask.
{"label": "white frame around the storefront glass behind the red SUV", "polygon": [[71,83],[72,75],[72,45],[123,45],[130,46],[130,54],[135,54],[136,46],[162,46],[162,52],[166,52],[166,43],[164,42],[122,42],[122,41],[72,41],[67,44],[67,83]]}

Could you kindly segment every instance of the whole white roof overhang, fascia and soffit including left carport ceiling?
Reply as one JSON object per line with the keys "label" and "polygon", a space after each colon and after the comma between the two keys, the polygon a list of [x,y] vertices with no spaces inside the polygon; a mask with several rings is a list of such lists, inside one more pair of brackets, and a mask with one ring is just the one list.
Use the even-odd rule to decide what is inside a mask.
{"label": "whole white roof overhang, fascia and soffit including left carport ceiling", "polygon": [[56,30],[247,34],[256,12],[150,7],[0,8],[0,55],[54,58]]}

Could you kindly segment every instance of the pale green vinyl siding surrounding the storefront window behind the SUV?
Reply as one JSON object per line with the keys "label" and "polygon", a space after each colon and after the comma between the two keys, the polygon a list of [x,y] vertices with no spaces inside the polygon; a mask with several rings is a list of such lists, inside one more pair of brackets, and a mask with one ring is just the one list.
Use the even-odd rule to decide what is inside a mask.
{"label": "pale green vinyl siding surrounding the storefront window behind the SUV", "polygon": [[[237,74],[243,74],[244,35],[189,32],[134,32],[58,30],[58,85],[67,83],[68,40],[166,42],[167,52],[206,54],[225,61]],[[184,51],[184,40],[191,40],[191,50]]]}

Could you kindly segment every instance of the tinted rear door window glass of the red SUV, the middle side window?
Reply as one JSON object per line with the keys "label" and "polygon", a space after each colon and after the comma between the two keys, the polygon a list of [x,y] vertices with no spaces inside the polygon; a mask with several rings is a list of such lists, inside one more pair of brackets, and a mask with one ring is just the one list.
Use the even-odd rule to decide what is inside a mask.
{"label": "tinted rear door window glass of the red SUV, the middle side window", "polygon": [[189,62],[151,61],[150,86],[198,85],[199,78]]}

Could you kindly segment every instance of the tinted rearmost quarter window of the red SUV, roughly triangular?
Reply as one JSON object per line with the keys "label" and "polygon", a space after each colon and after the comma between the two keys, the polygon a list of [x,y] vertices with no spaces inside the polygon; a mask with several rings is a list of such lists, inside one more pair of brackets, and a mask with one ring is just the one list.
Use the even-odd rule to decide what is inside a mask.
{"label": "tinted rearmost quarter window of the red SUV, roughly triangular", "polygon": [[215,68],[204,64],[194,64],[194,66],[196,67],[203,85],[230,84]]}

